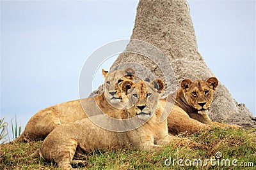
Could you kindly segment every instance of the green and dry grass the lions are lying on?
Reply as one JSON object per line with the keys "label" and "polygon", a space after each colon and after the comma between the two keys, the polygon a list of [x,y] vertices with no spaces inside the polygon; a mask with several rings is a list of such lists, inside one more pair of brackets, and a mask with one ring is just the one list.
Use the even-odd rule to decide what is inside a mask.
{"label": "green and dry grass the lions are lying on", "polygon": [[[212,128],[209,131],[198,132],[191,136],[186,136],[186,134],[180,134],[179,136],[180,138],[186,137],[195,141],[196,145],[189,148],[188,146],[176,146],[175,143],[171,143],[164,147],[163,150],[157,152],[145,152],[127,148],[94,151],[80,157],[86,162],[86,169],[222,170],[255,169],[256,167],[256,129],[232,130]],[[40,159],[40,157],[28,158],[28,155],[35,152],[41,143],[42,142],[39,141],[0,145],[0,169],[58,169],[55,164],[46,162]],[[219,155],[221,153],[222,157],[216,159],[216,153]],[[173,159],[175,159],[174,163]],[[183,160],[183,162],[179,162],[184,165],[183,167],[178,166],[179,159]],[[191,165],[193,165],[194,160],[202,160],[202,164],[205,164],[207,159],[209,159],[209,161],[206,166],[189,166],[189,161],[191,161]],[[216,164],[215,166],[211,165],[211,159],[212,164]],[[213,159],[215,159],[215,161]],[[228,162],[225,164],[228,160],[230,161],[230,166],[228,166]],[[236,163],[237,166],[233,166],[232,161]],[[221,166],[221,162],[223,166]],[[251,167],[241,167],[242,162]],[[250,162],[252,162],[253,165]],[[170,165],[168,166],[168,164]],[[196,162],[195,165],[197,165]]]}

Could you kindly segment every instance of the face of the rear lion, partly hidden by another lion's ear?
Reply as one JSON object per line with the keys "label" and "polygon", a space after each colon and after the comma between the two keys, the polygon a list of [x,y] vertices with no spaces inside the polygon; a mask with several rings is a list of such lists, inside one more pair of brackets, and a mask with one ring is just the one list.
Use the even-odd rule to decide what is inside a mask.
{"label": "face of the rear lion, partly hidden by another lion's ear", "polygon": [[125,80],[133,80],[135,71],[127,68],[124,71],[113,71],[109,73],[102,69],[104,80],[104,95],[111,104],[127,102],[128,98],[121,89],[122,82]]}

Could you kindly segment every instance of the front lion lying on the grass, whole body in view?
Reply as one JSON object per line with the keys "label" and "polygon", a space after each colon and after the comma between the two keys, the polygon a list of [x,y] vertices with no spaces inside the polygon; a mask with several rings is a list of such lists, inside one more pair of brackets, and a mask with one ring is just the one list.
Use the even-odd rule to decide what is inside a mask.
{"label": "front lion lying on the grass, whole body in view", "polygon": [[[163,87],[163,81],[154,80]],[[126,148],[132,146],[140,150],[159,150],[176,139],[168,134],[167,122],[159,122],[164,111],[159,103],[161,90],[156,89],[152,83],[139,81],[124,81],[122,90],[127,93],[132,107],[127,110],[115,110],[114,117],[120,120],[105,120],[104,115],[93,116],[95,120],[102,120],[104,124],[116,127],[127,127],[128,131],[115,132],[103,129],[89,118],[83,118],[70,124],[63,124],[52,131],[42,143],[42,146],[33,156],[56,162],[62,169],[72,169],[70,162],[83,162],[73,160],[75,153],[92,152],[92,150]],[[126,121],[126,122],[125,122]]]}

